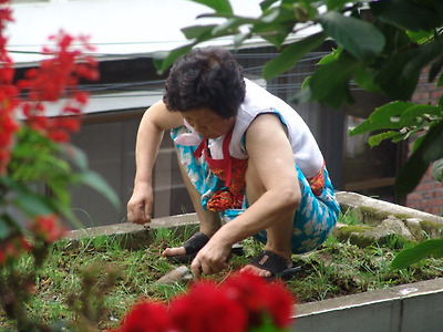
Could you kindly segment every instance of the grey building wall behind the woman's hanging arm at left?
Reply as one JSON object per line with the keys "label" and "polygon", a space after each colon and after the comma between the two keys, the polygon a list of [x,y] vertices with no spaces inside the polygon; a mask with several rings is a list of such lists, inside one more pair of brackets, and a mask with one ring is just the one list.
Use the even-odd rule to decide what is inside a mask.
{"label": "grey building wall behind the woman's hanging arm at left", "polygon": [[[87,186],[72,188],[71,207],[80,221],[72,228],[126,221],[126,203],[135,176],[136,135],[144,112],[133,108],[86,115],[81,131],[72,137],[72,143],[86,153],[90,168],[107,181],[121,201],[121,209],[116,209]],[[194,211],[168,133],[158,151],[153,178],[154,218]]]}

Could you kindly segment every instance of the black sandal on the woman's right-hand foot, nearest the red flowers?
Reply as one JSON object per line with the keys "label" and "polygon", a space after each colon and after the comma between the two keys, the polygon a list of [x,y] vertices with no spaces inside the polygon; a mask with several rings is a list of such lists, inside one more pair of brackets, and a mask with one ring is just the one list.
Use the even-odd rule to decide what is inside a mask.
{"label": "black sandal on the woman's right-hand foot, nearest the red flowers", "polygon": [[269,271],[271,276],[266,279],[280,278],[282,280],[289,280],[301,270],[301,268],[295,263],[292,263],[292,267],[288,268],[288,262],[285,258],[269,250],[261,251],[260,255],[248,264]]}

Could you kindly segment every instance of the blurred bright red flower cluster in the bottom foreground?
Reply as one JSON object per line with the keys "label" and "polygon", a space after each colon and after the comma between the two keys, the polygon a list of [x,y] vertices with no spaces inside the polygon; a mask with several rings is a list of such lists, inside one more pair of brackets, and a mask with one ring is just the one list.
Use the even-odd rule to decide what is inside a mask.
{"label": "blurred bright red flower cluster in the bottom foreground", "polygon": [[168,307],[141,301],[112,332],[245,332],[266,320],[274,331],[281,331],[292,321],[293,305],[295,298],[282,282],[238,273],[219,286],[208,280],[196,282]]}

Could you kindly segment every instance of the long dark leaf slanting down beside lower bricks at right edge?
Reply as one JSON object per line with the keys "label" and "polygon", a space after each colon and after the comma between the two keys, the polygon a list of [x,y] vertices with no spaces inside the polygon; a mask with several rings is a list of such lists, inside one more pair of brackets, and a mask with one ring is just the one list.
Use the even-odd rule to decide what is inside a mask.
{"label": "long dark leaf slanting down beside lower bricks at right edge", "polygon": [[411,193],[420,183],[430,163],[443,158],[443,121],[432,126],[421,144],[412,153],[395,178],[395,191],[400,197]]}

